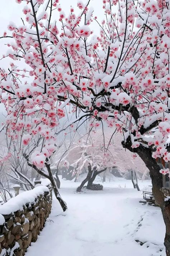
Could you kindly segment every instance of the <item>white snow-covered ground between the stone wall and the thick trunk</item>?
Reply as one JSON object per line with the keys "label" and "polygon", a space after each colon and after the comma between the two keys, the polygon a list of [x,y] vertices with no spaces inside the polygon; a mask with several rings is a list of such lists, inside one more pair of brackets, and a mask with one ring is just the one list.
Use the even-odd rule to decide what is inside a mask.
{"label": "white snow-covered ground between the stone wall and the thick trunk", "polygon": [[[76,193],[79,184],[62,180],[69,210],[63,214],[54,198],[51,215],[26,256],[165,256],[161,211],[139,203],[142,192],[132,189],[131,181],[115,178],[104,183],[103,191]],[[139,185],[151,188],[149,181]]]}

